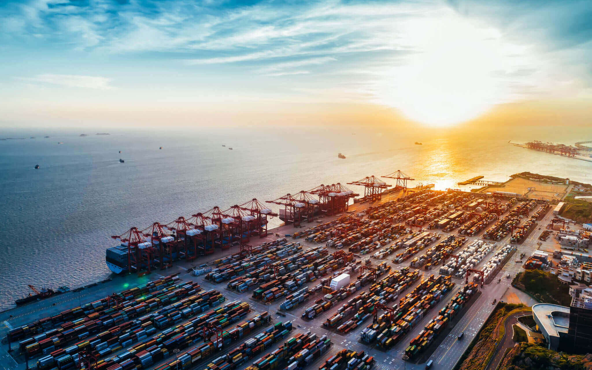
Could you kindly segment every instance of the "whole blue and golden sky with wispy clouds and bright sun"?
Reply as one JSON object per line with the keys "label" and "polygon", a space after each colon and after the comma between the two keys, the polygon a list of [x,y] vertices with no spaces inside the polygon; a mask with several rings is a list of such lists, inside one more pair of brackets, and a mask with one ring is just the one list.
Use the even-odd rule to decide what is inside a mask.
{"label": "whole blue and golden sky with wispy clouds and bright sun", "polygon": [[0,126],[589,125],[592,1],[0,2]]}

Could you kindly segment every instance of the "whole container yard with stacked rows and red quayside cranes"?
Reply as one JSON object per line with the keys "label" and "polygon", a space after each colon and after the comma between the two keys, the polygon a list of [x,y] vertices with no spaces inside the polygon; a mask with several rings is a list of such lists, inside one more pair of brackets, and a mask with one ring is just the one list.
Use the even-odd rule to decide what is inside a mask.
{"label": "whole container yard with stacked rows and red quayside cranes", "polygon": [[[351,200],[343,193],[327,198]],[[40,302],[3,316],[8,356],[39,370],[366,370],[416,346],[409,354],[421,363],[473,302],[490,310],[501,284],[483,287],[482,300],[475,283],[500,274],[520,244],[504,244],[510,234],[546,222],[550,206],[451,190],[401,195],[346,207],[300,194],[291,222],[269,231],[259,222],[275,213],[255,200],[130,229],[115,247],[129,259],[125,273],[47,298],[47,317]],[[464,287],[468,274],[477,275]]]}

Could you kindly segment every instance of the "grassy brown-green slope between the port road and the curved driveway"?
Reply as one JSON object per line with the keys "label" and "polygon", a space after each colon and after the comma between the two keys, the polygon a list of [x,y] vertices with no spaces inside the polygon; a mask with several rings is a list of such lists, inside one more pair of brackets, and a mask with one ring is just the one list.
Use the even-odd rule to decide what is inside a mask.
{"label": "grassy brown-green slope between the port road and the curved driveway", "polygon": [[496,352],[496,343],[504,336],[504,323],[511,314],[520,311],[530,311],[530,307],[523,304],[498,303],[485,324],[472,340],[459,361],[456,369],[482,370],[487,366],[491,356]]}

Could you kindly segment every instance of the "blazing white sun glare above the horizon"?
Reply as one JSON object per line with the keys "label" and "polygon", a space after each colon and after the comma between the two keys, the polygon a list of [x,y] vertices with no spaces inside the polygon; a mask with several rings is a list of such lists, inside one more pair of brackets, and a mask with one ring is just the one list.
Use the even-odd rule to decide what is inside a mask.
{"label": "blazing white sun glare above the horizon", "polygon": [[403,37],[412,52],[388,73],[382,104],[429,126],[451,126],[503,101],[496,71],[505,68],[506,58],[497,30],[446,14],[410,21]]}

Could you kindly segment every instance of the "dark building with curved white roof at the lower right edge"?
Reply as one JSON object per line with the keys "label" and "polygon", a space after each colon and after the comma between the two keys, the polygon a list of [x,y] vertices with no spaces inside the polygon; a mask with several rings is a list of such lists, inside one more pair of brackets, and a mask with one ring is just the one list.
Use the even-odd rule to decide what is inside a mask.
{"label": "dark building with curved white roof at the lower right edge", "polygon": [[549,349],[578,354],[592,351],[592,300],[574,297],[570,307],[535,304],[532,314]]}

